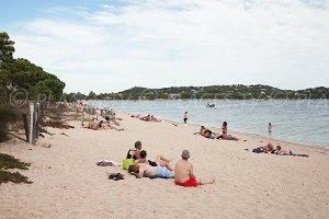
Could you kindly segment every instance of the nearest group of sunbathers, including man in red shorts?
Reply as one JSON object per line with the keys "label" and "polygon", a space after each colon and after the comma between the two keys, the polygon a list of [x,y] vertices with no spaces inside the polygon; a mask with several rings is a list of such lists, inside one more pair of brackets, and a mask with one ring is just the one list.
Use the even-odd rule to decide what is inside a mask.
{"label": "nearest group of sunbathers, including man in red shorts", "polygon": [[171,160],[166,159],[163,155],[157,155],[156,161],[151,161],[147,158],[147,152],[141,150],[140,141],[136,141],[135,148],[129,149],[126,155],[126,159],[135,160],[135,164],[128,166],[128,173],[137,178],[144,176],[150,178],[174,178],[177,185],[185,187],[215,183],[215,180],[203,181],[195,177],[193,165],[189,162],[189,150],[183,150],[181,158],[174,169],[169,164]]}

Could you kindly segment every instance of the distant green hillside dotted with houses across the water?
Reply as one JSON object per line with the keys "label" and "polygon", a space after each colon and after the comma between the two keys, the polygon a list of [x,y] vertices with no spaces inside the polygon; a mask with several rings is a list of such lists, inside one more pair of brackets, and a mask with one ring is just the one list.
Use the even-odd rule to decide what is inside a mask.
{"label": "distant green hillside dotted with houses across the water", "polygon": [[269,99],[329,99],[329,88],[319,87],[305,90],[281,90],[270,85],[209,85],[209,87],[171,87],[148,89],[134,87],[118,93],[101,93],[89,95],[81,93],[67,94],[68,97],[88,100],[157,100],[157,99],[234,99],[234,100],[269,100]]}

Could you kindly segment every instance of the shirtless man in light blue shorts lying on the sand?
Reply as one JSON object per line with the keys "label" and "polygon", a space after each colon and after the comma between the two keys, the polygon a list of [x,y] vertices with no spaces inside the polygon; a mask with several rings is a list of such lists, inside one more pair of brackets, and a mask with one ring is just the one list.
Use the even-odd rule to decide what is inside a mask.
{"label": "shirtless man in light blue shorts lying on the sand", "polygon": [[128,173],[136,175],[136,177],[141,178],[143,176],[147,177],[162,177],[162,178],[173,178],[173,171],[168,170],[167,168],[157,165],[151,166],[147,163],[137,163],[128,168]]}

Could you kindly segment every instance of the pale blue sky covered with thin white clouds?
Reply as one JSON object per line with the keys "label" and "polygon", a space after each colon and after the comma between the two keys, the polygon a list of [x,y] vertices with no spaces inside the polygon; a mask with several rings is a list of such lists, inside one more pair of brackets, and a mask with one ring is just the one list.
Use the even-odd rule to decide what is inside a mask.
{"label": "pale blue sky covered with thin white clouds", "polygon": [[0,0],[0,32],[66,92],[329,87],[329,0]]}

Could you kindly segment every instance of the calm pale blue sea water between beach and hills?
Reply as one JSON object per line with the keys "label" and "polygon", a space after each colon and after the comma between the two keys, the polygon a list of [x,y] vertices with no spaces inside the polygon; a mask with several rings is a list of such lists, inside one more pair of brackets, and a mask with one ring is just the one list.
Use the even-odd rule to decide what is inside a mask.
{"label": "calm pale blue sea water between beach and hills", "polygon": [[274,139],[329,148],[329,101],[214,101],[214,108],[205,107],[206,101],[94,101],[91,105],[110,107],[123,113],[155,115],[158,118],[183,122],[189,112],[189,123],[206,127],[269,136],[272,123]]}

